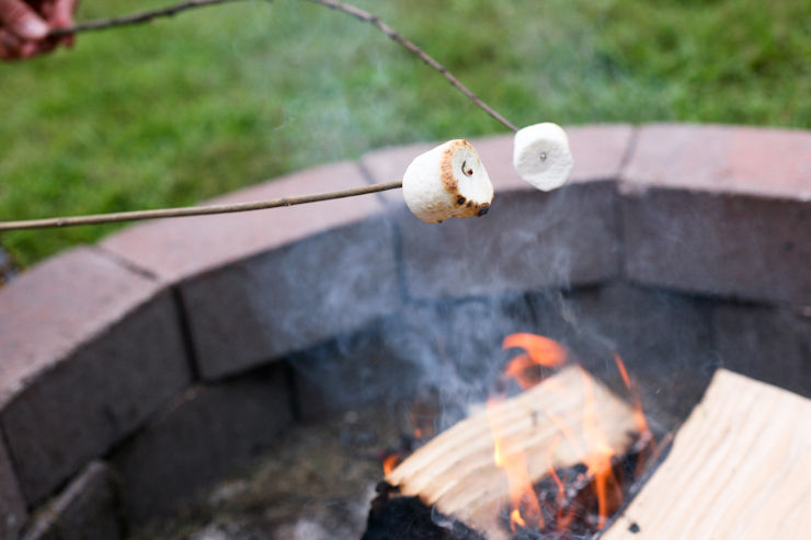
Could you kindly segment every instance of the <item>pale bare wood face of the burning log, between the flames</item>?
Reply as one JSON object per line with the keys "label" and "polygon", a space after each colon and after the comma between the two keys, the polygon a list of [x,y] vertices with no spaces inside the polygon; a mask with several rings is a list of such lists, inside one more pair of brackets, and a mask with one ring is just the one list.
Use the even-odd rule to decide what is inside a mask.
{"label": "pale bare wood face of the burning log, between the flames", "polygon": [[[633,443],[633,410],[605,387],[575,367],[526,392],[495,405],[503,422],[503,436],[526,455],[529,479],[537,482],[553,467],[582,462],[580,449],[587,447],[583,424],[585,383],[594,392],[595,425],[605,433],[607,444],[624,455]],[[558,423],[552,420],[552,415]],[[559,422],[570,426],[576,446],[561,434]],[[557,443],[557,446],[556,446]],[[507,504],[509,485],[503,469],[493,461],[494,444],[486,412],[459,422],[416,450],[386,476],[386,482],[406,496],[436,505],[488,540],[506,540],[512,535],[496,522],[499,510]],[[551,453],[550,453],[551,451]],[[509,456],[507,456],[509,457]]]}

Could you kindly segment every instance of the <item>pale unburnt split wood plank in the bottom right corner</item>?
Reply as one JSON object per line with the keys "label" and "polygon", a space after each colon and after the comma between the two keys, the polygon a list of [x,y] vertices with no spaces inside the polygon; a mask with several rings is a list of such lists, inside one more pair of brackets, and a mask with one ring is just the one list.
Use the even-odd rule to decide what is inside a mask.
{"label": "pale unburnt split wood plank in the bottom right corner", "polygon": [[811,538],[811,400],[720,369],[603,539],[764,538]]}

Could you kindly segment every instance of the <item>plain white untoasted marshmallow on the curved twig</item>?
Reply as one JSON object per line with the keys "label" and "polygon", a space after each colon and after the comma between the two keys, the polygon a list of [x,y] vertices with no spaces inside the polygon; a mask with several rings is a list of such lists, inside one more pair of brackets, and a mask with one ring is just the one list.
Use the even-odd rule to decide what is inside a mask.
{"label": "plain white untoasted marshmallow on the curved twig", "polygon": [[573,164],[569,137],[557,124],[536,124],[515,134],[513,166],[534,187],[542,192],[560,187]]}

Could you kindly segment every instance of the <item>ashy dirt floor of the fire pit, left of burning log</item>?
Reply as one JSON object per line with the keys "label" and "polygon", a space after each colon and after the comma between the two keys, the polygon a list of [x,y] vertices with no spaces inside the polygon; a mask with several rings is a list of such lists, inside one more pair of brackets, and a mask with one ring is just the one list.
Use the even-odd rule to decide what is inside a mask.
{"label": "ashy dirt floor of the fire pit, left of burning log", "polygon": [[386,407],[297,425],[276,448],[130,540],[358,540],[381,459],[408,417]]}

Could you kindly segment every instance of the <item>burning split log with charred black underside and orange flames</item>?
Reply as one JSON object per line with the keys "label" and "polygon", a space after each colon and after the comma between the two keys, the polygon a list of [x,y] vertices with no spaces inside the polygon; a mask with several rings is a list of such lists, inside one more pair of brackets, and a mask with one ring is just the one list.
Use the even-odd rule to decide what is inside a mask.
{"label": "burning split log with charred black underside and orange flames", "polygon": [[[546,352],[560,361],[553,347]],[[614,456],[631,449],[638,426],[632,406],[582,369],[566,367],[491,402],[387,474],[364,540],[540,538],[532,531],[548,525],[540,520],[549,498],[571,507],[586,486],[599,491],[597,479],[617,466]]]}

